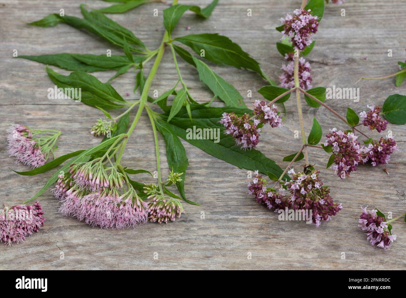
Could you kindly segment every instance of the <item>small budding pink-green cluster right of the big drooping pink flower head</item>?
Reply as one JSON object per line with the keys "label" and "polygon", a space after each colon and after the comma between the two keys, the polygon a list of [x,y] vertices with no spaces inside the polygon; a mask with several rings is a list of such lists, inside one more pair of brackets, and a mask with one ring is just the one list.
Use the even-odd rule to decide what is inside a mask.
{"label": "small budding pink-green cluster right of the big drooping pink flower head", "polygon": [[162,195],[151,195],[149,202],[149,221],[158,223],[168,223],[175,221],[175,217],[180,218],[185,213],[182,204],[177,199],[163,197]]}

